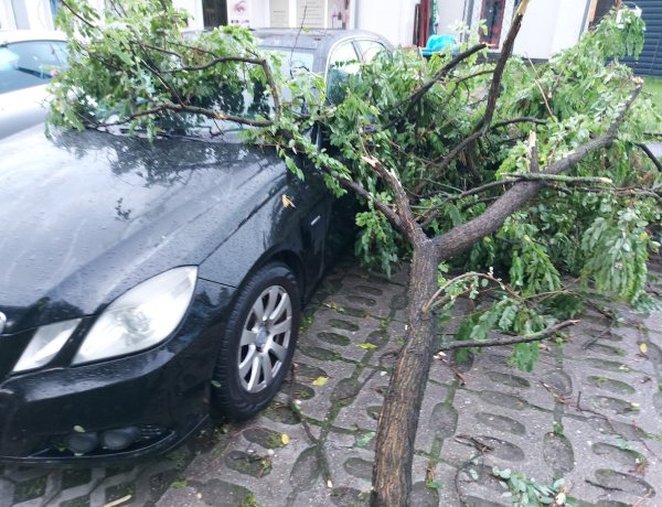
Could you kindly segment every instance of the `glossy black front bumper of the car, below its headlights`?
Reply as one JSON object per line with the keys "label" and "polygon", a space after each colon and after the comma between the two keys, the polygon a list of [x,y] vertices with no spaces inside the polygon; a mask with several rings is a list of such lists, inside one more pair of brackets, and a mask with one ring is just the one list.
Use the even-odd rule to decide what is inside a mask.
{"label": "glossy black front bumper of the car, below its headlights", "polygon": [[[199,283],[197,294],[205,284],[212,288]],[[228,300],[227,291],[213,300],[209,292],[196,298],[177,334],[156,348],[0,381],[0,463],[136,460],[163,454],[195,432],[209,420],[210,379]],[[104,435],[114,431],[128,431],[131,444],[105,446]],[[71,439],[81,438],[98,444],[72,450]]]}

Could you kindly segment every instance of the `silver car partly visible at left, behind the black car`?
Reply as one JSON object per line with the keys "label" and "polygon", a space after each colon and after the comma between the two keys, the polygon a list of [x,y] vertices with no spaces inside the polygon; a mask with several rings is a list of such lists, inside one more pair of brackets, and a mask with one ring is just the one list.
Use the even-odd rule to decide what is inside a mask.
{"label": "silver car partly visible at left, behind the black car", "polygon": [[46,85],[65,67],[63,33],[0,31],[0,139],[44,120]]}

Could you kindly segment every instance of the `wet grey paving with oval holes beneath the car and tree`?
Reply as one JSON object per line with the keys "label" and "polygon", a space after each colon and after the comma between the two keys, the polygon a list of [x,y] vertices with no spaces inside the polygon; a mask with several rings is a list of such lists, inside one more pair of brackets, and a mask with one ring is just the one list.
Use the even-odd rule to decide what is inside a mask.
{"label": "wet grey paving with oval holes beneath the car and tree", "polygon": [[[145,465],[0,468],[0,506],[364,505],[405,281],[355,268],[328,277],[307,310],[292,378],[257,419],[209,429]],[[414,506],[510,505],[492,466],[545,485],[563,477],[580,506],[662,505],[662,314],[623,311],[615,324],[589,311],[570,336],[549,343],[532,373],[509,368],[503,348],[461,371],[435,362]]]}

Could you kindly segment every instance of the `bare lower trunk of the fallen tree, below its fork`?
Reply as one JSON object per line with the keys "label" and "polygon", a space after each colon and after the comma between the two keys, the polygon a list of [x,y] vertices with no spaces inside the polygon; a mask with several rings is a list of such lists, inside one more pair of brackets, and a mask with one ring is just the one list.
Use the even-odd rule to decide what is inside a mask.
{"label": "bare lower trunk of the fallen tree, below its fork", "polygon": [[437,290],[438,260],[430,241],[416,246],[409,277],[405,346],[398,356],[377,424],[371,506],[408,506],[412,462],[435,341],[434,315],[420,309]]}

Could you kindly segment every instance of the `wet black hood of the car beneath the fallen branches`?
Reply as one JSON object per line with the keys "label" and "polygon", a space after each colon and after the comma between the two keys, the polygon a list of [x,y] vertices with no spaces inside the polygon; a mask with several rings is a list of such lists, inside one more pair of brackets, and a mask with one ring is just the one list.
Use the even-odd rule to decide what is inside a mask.
{"label": "wet black hood of the car beneath the fallen branches", "polygon": [[273,152],[233,142],[42,127],[0,153],[4,333],[94,314],[153,274],[200,265],[287,177]]}

